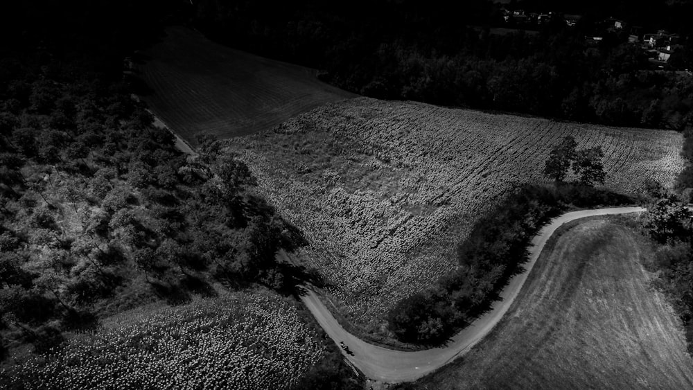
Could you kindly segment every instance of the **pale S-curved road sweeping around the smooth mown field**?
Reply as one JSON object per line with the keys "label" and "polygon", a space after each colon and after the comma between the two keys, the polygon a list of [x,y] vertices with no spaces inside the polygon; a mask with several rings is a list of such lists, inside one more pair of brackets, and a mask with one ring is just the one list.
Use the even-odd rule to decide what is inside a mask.
{"label": "pale S-curved road sweeping around the smooth mown field", "polygon": [[543,227],[532,239],[532,245],[529,247],[529,260],[524,264],[525,272],[511,279],[510,283],[500,293],[502,300],[493,303],[489,312],[486,312],[486,314],[474,321],[471,326],[457,333],[444,347],[425,351],[405,352],[374,346],[363,342],[344,330],[331,312],[323,305],[322,301],[320,301],[319,296],[312,290],[306,288],[306,294],[301,296],[301,300],[336,344],[344,341],[344,344],[349,346],[353,355],[345,354],[344,356],[358,369],[363,371],[368,378],[390,383],[416,380],[438,369],[440,366],[448,364],[456,357],[464,355],[493,329],[493,326],[507,312],[523,284],[525,284],[527,275],[532,271],[532,267],[534,267],[534,263],[536,263],[536,259],[539,257],[547,240],[562,224],[595,215],[638,213],[640,211],[645,211],[645,209],[642,207],[618,207],[572,211],[554,218],[550,224]]}

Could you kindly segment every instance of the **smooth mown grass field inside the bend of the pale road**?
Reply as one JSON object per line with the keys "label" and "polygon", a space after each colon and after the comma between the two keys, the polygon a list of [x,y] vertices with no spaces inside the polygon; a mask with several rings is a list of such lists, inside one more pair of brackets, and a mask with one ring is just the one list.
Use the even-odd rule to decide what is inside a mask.
{"label": "smooth mown grass field inside the bend of the pale road", "polygon": [[647,238],[617,220],[556,232],[518,299],[461,360],[421,389],[690,389],[683,328],[642,262]]}

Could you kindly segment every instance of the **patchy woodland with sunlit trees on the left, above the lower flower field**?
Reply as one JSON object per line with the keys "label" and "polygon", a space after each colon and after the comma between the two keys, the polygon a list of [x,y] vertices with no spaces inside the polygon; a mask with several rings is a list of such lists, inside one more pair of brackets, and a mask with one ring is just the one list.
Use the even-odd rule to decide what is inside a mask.
{"label": "patchy woodland with sunlit trees on the left, above the lower flower field", "polygon": [[83,62],[15,60],[0,99],[3,345],[46,351],[62,330],[214,281],[281,289],[274,253],[291,233],[245,165],[211,139],[186,158],[127,85],[72,78]]}

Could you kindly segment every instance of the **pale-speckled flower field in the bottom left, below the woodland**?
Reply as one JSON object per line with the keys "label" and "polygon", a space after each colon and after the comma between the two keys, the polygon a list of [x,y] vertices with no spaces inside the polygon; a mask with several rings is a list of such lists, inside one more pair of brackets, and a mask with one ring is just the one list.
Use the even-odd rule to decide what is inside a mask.
{"label": "pale-speckled flower field in the bottom left, below the woodland", "polygon": [[123,313],[6,374],[22,389],[288,389],[322,352],[279,296],[236,293]]}

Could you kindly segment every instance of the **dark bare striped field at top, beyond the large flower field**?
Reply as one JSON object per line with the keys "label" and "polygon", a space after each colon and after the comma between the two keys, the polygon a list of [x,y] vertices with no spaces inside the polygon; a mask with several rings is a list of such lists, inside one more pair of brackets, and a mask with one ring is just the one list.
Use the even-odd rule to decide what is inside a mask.
{"label": "dark bare striped field at top, beyond the large flower field", "polygon": [[143,100],[193,146],[195,134],[251,134],[355,96],[317,80],[314,69],[215,44],[189,28],[166,34],[135,69],[154,90]]}

